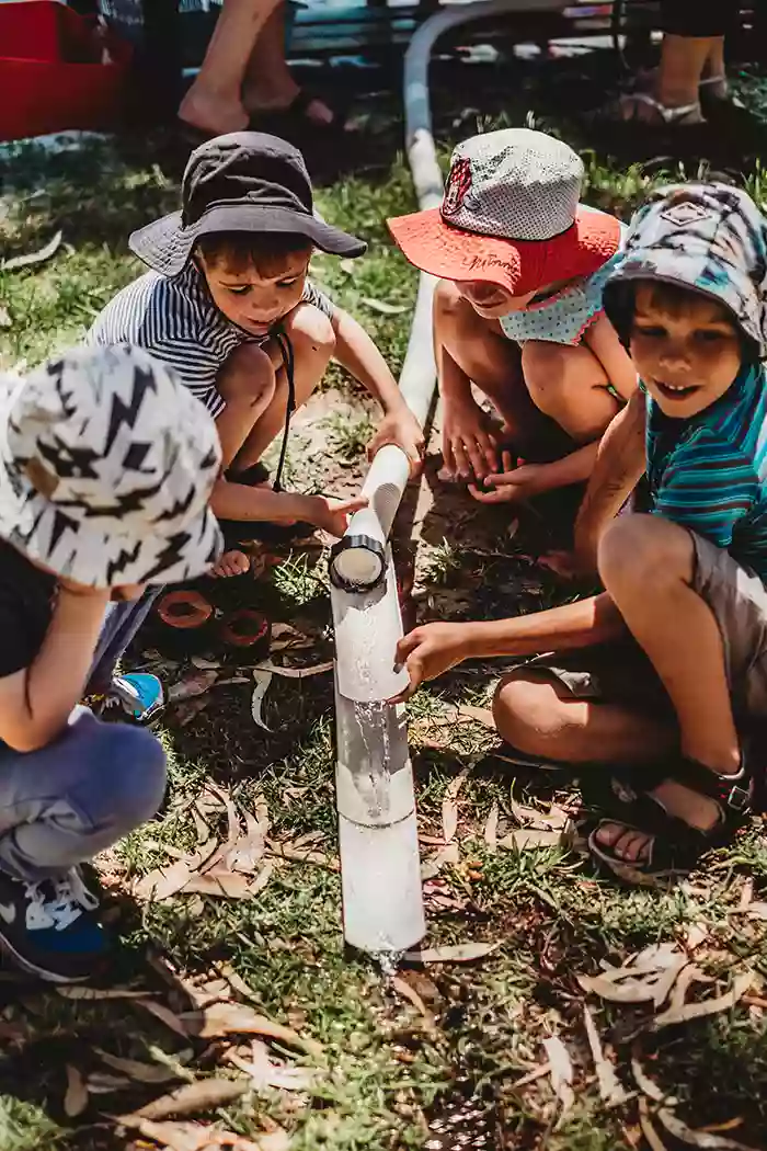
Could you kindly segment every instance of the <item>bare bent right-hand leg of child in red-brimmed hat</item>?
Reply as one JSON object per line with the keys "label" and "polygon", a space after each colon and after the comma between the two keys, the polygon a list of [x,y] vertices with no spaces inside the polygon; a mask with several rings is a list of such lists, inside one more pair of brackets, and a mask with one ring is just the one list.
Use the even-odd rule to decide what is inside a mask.
{"label": "bare bent right-hand leg of child in red-brimmed hat", "polygon": [[522,372],[536,407],[576,444],[597,440],[619,412],[604,367],[584,344],[530,341],[522,348]]}

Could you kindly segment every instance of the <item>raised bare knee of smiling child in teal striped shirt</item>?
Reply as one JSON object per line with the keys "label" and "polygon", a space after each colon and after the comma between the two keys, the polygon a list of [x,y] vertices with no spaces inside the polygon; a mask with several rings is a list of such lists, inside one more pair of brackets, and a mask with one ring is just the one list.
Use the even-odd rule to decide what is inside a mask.
{"label": "raised bare knee of smiling child in teal striped shirt", "polygon": [[619,516],[599,541],[597,565],[603,584],[636,588],[643,596],[664,584],[692,579],[695,548],[684,527],[659,516]]}

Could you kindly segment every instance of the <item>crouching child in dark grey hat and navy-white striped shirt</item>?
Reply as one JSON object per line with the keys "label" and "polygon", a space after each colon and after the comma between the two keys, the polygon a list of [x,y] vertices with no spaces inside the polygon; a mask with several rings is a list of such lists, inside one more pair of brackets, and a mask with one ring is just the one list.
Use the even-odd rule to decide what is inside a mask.
{"label": "crouching child in dark grey hat and navy-white striped shirt", "polygon": [[[398,443],[413,464],[421,429],[381,352],[351,315],[307,280],[315,249],[356,257],[366,245],[313,209],[300,152],[260,132],[233,132],[192,153],[182,211],[133,233],[132,250],[152,268],[124,288],[95,320],[89,341],[131,343],[171,365],[216,420],[224,475],[212,506],[232,540],[256,534],[253,521],[308,521],[343,535],[359,500],[274,490],[259,460],[306,403],[330,361],[378,399],[384,419],[370,453]],[[283,439],[284,455],[285,439]],[[255,466],[259,465],[259,466]],[[261,486],[256,486],[261,485]],[[251,521],[248,525],[243,521]],[[216,574],[247,570],[237,549]]]}

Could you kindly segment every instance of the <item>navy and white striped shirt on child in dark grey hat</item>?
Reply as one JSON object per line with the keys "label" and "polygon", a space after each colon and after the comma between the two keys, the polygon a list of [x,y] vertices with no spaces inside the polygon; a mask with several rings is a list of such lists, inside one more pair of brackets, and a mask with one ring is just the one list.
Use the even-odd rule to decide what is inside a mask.
{"label": "navy and white striped shirt on child in dark grey hat", "polygon": [[[333,305],[309,280],[302,300],[332,319]],[[263,343],[238,328],[213,303],[193,264],[177,276],[147,272],[117,292],[95,318],[87,344],[136,344],[176,369],[215,418],[224,401],[216,388],[222,366],[244,343]]]}

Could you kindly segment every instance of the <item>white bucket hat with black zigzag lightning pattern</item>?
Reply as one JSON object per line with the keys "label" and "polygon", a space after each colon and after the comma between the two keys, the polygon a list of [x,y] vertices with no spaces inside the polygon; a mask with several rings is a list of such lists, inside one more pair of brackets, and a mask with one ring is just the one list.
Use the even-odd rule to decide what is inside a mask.
{"label": "white bucket hat with black zigzag lightning pattern", "polygon": [[204,405],[139,349],[70,351],[0,381],[0,538],[77,584],[206,572],[220,464]]}

